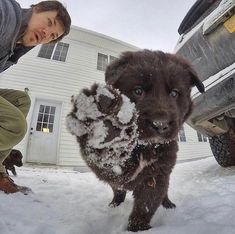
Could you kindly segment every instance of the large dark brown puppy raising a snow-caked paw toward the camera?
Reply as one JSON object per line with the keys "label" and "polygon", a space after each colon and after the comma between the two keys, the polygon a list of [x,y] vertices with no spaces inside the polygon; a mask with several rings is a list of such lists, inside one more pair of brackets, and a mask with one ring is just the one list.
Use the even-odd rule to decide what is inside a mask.
{"label": "large dark brown puppy raising a snow-caked paw toward the camera", "polygon": [[93,85],[73,98],[67,127],[87,165],[112,187],[110,205],[120,205],[133,191],[128,230],[147,230],[160,205],[175,207],[168,186],[176,138],[192,110],[191,88],[203,92],[204,86],[185,60],[150,50],[123,53],[105,79],[107,86]]}

